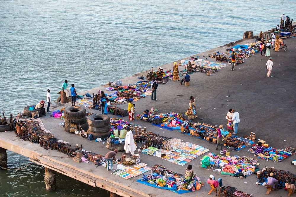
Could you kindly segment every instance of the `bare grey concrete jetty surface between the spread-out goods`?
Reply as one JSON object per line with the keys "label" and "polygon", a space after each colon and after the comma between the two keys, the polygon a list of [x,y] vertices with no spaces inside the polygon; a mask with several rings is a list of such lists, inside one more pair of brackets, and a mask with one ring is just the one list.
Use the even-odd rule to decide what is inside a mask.
{"label": "bare grey concrete jetty surface between the spread-out goods", "polygon": [[[235,44],[248,44],[253,39],[244,39]],[[157,101],[151,100],[150,97],[141,98],[134,102],[136,104],[136,114],[141,114],[145,109],[158,109],[160,113],[176,112],[185,113],[188,109],[189,97],[195,97],[197,105],[197,116],[193,122],[209,123],[212,125],[223,124],[226,126],[227,120],[225,116],[229,108],[236,109],[240,114],[240,124],[238,128],[238,136],[250,135],[253,131],[256,137],[263,139],[267,144],[274,148],[284,149],[287,146],[295,147],[295,52],[296,39],[290,38],[284,40],[287,44],[288,51],[280,49],[279,52],[271,50],[271,57],[274,62],[274,69],[271,71],[270,78],[267,78],[266,61],[269,59],[260,56],[257,53],[244,60],[243,64],[235,66],[235,70],[231,71],[231,66],[218,70],[215,75],[207,76],[203,73],[194,73],[190,75],[190,86],[185,87],[180,85],[180,82],[169,81],[168,84],[159,85],[157,89]],[[214,51],[224,52],[229,45],[224,45],[194,56],[199,58],[208,58],[209,61],[215,61],[207,57],[208,54]],[[205,57],[203,57],[205,56]],[[190,56],[192,57],[192,56]],[[186,58],[185,58],[186,59]],[[188,59],[188,58],[187,58]],[[172,70],[173,63],[161,66],[164,70]],[[182,67],[179,67],[182,70]],[[122,79],[123,85],[137,82],[137,77],[144,75],[142,72],[125,79]],[[77,84],[77,83],[75,83]],[[98,92],[105,87],[97,87],[86,92],[81,92],[79,95]],[[79,92],[79,84],[77,84],[77,92]],[[105,91],[107,92],[107,91]],[[108,94],[108,93],[107,93]],[[228,97],[227,97],[228,96]],[[28,103],[29,104],[29,103]],[[70,103],[56,107],[61,109],[65,106],[70,106]],[[24,106],[25,107],[25,106]],[[127,104],[119,105],[120,108],[127,108]],[[54,110],[55,108],[51,108]],[[98,110],[89,110],[100,114]],[[112,116],[118,118],[118,116]],[[128,117],[124,117],[128,121]],[[93,151],[98,154],[106,154],[109,150],[102,142],[89,141],[81,138],[78,135],[68,134],[65,129],[58,124],[62,121],[49,117],[41,118],[44,126],[50,130],[55,137],[69,142],[72,146],[82,144],[83,149]],[[168,131],[153,126],[150,123],[136,120],[135,124],[146,126],[148,131],[158,133],[163,136],[171,136],[172,138],[181,139],[184,142],[198,144],[210,152],[218,153],[215,150],[215,144],[205,140],[200,140],[196,137],[185,135],[177,131]],[[284,141],[285,140],[285,141]],[[140,144],[138,144],[140,145]],[[104,167],[96,167],[93,162],[76,163],[67,155],[54,150],[46,150],[41,148],[39,144],[31,144],[29,141],[22,141],[17,138],[14,132],[0,133],[0,147],[17,152],[34,160],[45,167],[63,173],[69,177],[81,180],[83,183],[107,189],[120,196],[209,196],[210,186],[206,183],[210,174],[216,178],[222,178],[223,185],[233,186],[238,190],[246,193],[252,193],[254,196],[265,195],[267,189],[265,186],[255,185],[257,180],[255,175],[250,175],[247,178],[239,179],[229,175],[221,175],[219,172],[210,172],[207,169],[200,167],[200,158],[192,160],[189,164],[193,166],[194,173],[200,177],[200,180],[205,182],[205,186],[199,191],[178,195],[176,193],[159,190],[150,186],[137,183],[136,180],[141,178],[141,175],[128,180],[111,175]],[[239,151],[230,152],[231,156],[248,156],[255,158],[253,154],[247,152],[249,147]],[[117,158],[121,156],[119,152]],[[167,162],[164,159],[153,157],[150,155],[140,154],[141,162],[147,163],[149,166],[161,164],[170,170],[179,173],[185,173],[186,166],[180,166]],[[288,170],[295,173],[295,166],[291,165],[291,161],[296,159],[295,155],[284,159],[282,162],[272,162],[258,159],[260,168],[264,166],[275,167],[278,170]],[[213,193],[212,193],[213,194]],[[271,192],[269,196],[286,196],[287,191],[281,189],[276,192]]]}

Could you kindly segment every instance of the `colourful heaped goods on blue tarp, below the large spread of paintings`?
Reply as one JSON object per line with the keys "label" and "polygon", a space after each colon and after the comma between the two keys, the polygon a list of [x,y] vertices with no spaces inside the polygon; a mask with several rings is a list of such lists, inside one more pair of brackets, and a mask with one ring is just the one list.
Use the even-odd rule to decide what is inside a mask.
{"label": "colourful heaped goods on blue tarp, below the large spread of paintings", "polygon": [[182,174],[168,170],[162,165],[154,165],[150,173],[146,176],[143,175],[137,182],[178,194],[199,190],[200,186],[204,185],[198,177],[185,180]]}

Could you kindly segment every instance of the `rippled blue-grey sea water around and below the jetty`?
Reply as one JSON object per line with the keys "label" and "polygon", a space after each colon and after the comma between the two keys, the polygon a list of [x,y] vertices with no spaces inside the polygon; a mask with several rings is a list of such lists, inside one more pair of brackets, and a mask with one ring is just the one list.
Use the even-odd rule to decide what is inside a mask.
{"label": "rippled blue-grey sea water around and below the jetty", "polygon": [[[56,100],[65,79],[82,92],[276,27],[295,0],[0,0],[0,115]],[[292,15],[294,14],[294,16]],[[16,169],[28,158],[8,152]],[[109,196],[65,175],[57,191],[44,167],[0,170],[0,196]]]}

